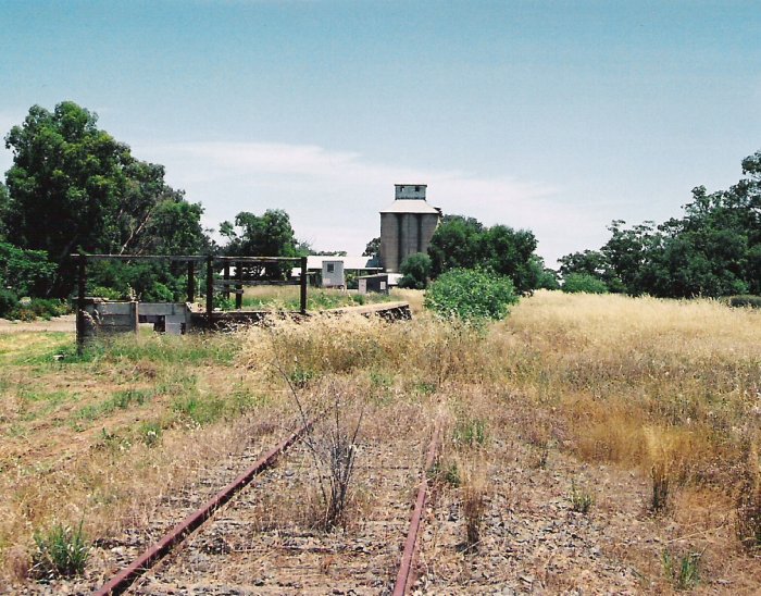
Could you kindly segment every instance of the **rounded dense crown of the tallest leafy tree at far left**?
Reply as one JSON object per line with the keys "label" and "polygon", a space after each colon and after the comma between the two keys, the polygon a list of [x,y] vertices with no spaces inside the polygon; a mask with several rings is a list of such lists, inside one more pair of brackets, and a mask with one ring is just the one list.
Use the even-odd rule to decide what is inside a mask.
{"label": "rounded dense crown of the tallest leafy tree at far left", "polygon": [[5,137],[13,165],[9,239],[62,261],[77,247],[117,248],[120,198],[127,189],[126,145],[96,126],[97,117],[65,101],[54,112],[34,105]]}

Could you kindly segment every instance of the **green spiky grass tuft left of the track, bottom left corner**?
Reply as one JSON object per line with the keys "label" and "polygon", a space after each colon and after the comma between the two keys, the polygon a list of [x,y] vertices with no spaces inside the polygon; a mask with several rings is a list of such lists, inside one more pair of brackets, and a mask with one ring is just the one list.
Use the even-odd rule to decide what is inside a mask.
{"label": "green spiky grass tuft left of the track, bottom left corner", "polygon": [[[83,520],[84,521],[84,520]],[[90,546],[82,531],[61,523],[35,534],[34,572],[40,579],[71,578],[85,571]]]}

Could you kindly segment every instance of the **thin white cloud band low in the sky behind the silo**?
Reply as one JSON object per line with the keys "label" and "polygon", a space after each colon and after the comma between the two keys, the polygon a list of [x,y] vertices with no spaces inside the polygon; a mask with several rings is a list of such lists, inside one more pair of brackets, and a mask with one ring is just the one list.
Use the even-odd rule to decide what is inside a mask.
{"label": "thin white cloud band low in the sky behind the silo", "polygon": [[577,240],[600,229],[600,222],[565,204],[557,187],[510,176],[374,163],[315,145],[173,142],[133,149],[163,163],[170,184],[203,203],[207,225],[240,211],[285,209],[297,235],[320,249],[359,253],[378,235],[378,211],[394,200],[397,183],[427,184],[428,201],[445,213],[532,229],[550,263],[569,251],[571,236]]}

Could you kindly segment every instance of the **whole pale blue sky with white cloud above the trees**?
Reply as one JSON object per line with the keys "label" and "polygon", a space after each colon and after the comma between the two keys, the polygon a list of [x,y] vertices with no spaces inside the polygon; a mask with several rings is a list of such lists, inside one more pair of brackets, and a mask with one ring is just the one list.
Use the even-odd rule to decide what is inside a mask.
{"label": "whole pale blue sky with white cloud above the trees", "polygon": [[760,38],[758,2],[731,0],[0,1],[0,131],[74,100],[207,225],[282,208],[350,253],[395,183],[427,183],[554,265],[739,178]]}

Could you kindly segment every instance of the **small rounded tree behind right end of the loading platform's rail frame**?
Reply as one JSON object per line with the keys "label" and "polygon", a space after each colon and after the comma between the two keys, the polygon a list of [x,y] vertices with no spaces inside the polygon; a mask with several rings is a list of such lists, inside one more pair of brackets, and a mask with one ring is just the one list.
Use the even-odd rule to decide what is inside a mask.
{"label": "small rounded tree behind right end of the loading platform's rail frame", "polygon": [[[224,253],[229,257],[300,257],[290,218],[282,209],[267,209],[263,215],[241,211],[235,216],[235,225],[223,222],[220,233],[228,238]],[[278,263],[248,268],[247,273],[285,278],[290,269],[291,265]]]}

